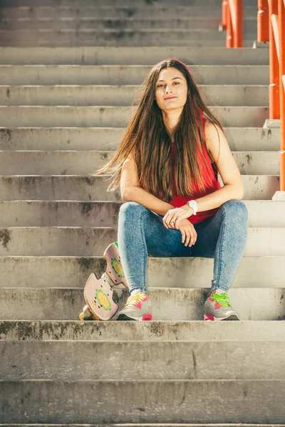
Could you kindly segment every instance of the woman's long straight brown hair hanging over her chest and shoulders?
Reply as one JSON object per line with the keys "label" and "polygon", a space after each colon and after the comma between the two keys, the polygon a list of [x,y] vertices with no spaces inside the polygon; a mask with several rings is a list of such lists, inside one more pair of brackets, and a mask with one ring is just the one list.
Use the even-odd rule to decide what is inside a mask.
{"label": "woman's long straight brown hair hanging over her chest and shoulders", "polygon": [[[187,100],[173,132],[176,147],[175,166],[171,159],[171,137],[162,120],[162,110],[155,101],[155,85],[160,71],[169,67],[177,68],[185,76],[188,87]],[[145,85],[145,91],[140,95],[140,99],[135,99],[132,103],[133,106],[138,102],[137,110],[113,159],[95,172],[95,175],[103,174],[110,169],[112,182],[107,191],[115,191],[120,185],[123,162],[132,153],[138,167],[141,188],[155,196],[161,191],[163,201],[168,202],[175,196],[175,189],[172,187],[173,176],[177,190],[182,196],[190,196],[195,192],[193,179],[197,182],[199,191],[204,191],[207,186],[201,162],[197,162],[198,147],[201,150],[202,161],[207,167],[208,176],[213,174],[213,170],[202,150],[202,144],[206,148],[207,146],[201,115],[204,114],[207,120],[219,126],[221,130],[222,125],[204,104],[190,70],[176,58],[162,60],[152,67],[142,85]],[[118,164],[113,166],[115,162]]]}

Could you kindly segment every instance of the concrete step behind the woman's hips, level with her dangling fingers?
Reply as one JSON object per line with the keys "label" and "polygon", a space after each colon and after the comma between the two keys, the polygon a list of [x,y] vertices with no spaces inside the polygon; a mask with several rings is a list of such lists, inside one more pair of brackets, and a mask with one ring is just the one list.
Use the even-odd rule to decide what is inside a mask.
{"label": "concrete step behind the woman's hips, level with her dangling fingers", "polygon": [[[0,228],[0,256],[94,256],[117,240],[113,227]],[[249,228],[244,256],[285,256],[285,228]]]}

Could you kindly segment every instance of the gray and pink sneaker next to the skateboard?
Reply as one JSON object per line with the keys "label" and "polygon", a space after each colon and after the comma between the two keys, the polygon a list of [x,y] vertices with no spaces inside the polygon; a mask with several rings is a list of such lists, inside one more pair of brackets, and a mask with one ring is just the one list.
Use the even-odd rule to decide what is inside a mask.
{"label": "gray and pink sneaker next to the skateboard", "polygon": [[117,320],[152,320],[152,302],[145,292],[130,295]]}

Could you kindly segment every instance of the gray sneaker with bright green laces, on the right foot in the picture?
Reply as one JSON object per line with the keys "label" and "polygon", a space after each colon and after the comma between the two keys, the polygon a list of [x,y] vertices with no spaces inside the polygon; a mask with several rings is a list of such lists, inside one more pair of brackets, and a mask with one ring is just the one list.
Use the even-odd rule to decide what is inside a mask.
{"label": "gray sneaker with bright green laces, on the right foot in the picture", "polygon": [[230,305],[226,292],[214,293],[204,304],[204,320],[239,320],[239,313]]}

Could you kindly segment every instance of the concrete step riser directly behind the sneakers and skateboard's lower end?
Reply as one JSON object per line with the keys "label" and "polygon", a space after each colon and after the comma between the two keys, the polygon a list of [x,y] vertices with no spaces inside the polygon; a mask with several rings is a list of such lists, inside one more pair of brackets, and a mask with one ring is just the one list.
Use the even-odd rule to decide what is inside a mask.
{"label": "concrete step riser directly behind the sneakers and skateboard's lower end", "polygon": [[[86,280],[82,288],[1,288],[1,320],[77,320],[86,305]],[[209,280],[208,288],[150,288],[153,320],[203,320],[210,284]],[[119,310],[129,296],[126,288],[114,290]],[[230,288],[229,298],[241,320],[285,320],[285,288]],[[118,312],[112,321],[117,317]]]}

